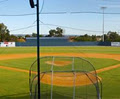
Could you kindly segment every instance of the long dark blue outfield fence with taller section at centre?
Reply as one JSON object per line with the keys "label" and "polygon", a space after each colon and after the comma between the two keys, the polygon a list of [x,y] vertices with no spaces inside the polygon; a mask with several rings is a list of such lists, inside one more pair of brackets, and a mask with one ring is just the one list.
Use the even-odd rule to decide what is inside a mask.
{"label": "long dark blue outfield fence with taller section at centre", "polygon": [[[26,42],[16,42],[16,46],[37,46],[35,38],[26,39]],[[80,41],[70,42],[68,38],[40,38],[40,46],[111,46],[111,42]]]}

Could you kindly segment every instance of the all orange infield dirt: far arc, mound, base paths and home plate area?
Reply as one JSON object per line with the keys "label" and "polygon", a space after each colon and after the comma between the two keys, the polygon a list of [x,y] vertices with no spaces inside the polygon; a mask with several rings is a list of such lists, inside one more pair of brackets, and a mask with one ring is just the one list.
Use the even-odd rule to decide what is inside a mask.
{"label": "all orange infield dirt: far arc, mound, base paths and home plate area", "polygon": [[[106,58],[106,59],[115,59],[120,61],[120,55],[116,54],[93,54],[93,53],[42,53],[41,56],[68,56],[68,57],[89,57],[89,58]],[[8,55],[1,55],[0,60],[7,60],[7,59],[20,59],[20,58],[30,58],[30,57],[36,57],[35,53],[31,54],[8,54]],[[52,64],[50,61],[47,62],[48,64]],[[56,66],[65,66],[67,64],[70,64],[70,62],[56,62],[54,65]],[[99,70],[96,70],[97,73],[101,73],[104,71],[108,71],[114,68],[120,67],[120,64],[115,65],[115,66],[109,66],[106,68],[102,68]],[[17,71],[17,72],[25,72],[29,73],[28,70],[23,70],[23,69],[17,69],[17,68],[11,68],[11,67],[5,67],[5,66],[0,66],[1,69],[6,69],[6,70],[12,70],[12,71]],[[36,73],[36,72],[32,72]],[[96,77],[88,74],[90,79],[95,83]],[[92,84],[92,82],[88,79],[88,77],[85,74],[82,73],[76,73],[76,79],[74,80],[74,75],[73,73],[55,73],[53,75],[53,85],[57,86],[73,86],[75,83],[76,86],[83,86],[83,85],[89,85]],[[100,77],[99,77],[100,78]],[[100,78],[101,79],[101,78]],[[74,82],[75,81],[75,82]],[[45,74],[43,78],[41,79],[42,83],[46,84],[51,84],[51,74]],[[79,83],[81,82],[81,83]]]}

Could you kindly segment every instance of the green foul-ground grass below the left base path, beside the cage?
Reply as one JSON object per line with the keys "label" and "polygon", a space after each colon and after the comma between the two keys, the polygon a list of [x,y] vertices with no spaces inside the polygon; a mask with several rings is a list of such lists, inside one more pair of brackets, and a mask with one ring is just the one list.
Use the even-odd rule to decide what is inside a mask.
{"label": "green foul-ground grass below the left base path, beside the cage", "polygon": [[0,99],[29,99],[28,74],[0,69]]}

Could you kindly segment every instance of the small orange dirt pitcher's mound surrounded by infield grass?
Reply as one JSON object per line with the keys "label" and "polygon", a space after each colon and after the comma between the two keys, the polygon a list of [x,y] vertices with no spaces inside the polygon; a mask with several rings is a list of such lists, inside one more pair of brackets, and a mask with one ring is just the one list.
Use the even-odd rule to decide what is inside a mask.
{"label": "small orange dirt pitcher's mound surrounded by infield grass", "polygon": [[46,61],[46,63],[54,66],[65,66],[71,64],[71,61]]}

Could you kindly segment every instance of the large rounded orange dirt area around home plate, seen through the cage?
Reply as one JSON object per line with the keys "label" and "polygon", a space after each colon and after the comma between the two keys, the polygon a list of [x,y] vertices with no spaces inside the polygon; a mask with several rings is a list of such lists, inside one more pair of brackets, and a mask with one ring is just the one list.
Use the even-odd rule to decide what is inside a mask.
{"label": "large rounded orange dirt area around home plate, seen through the cage", "polygon": [[85,73],[45,73],[41,74],[41,82],[56,86],[72,87],[84,86],[97,83],[97,78],[93,74]]}

